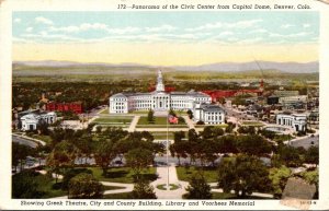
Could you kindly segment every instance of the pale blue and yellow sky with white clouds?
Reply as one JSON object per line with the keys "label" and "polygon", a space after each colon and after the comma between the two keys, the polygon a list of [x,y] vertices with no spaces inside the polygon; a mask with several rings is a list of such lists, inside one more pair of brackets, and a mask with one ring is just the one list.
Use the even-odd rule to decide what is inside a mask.
{"label": "pale blue and yellow sky with white clouds", "polygon": [[14,12],[12,24],[15,61],[318,60],[317,12]]}

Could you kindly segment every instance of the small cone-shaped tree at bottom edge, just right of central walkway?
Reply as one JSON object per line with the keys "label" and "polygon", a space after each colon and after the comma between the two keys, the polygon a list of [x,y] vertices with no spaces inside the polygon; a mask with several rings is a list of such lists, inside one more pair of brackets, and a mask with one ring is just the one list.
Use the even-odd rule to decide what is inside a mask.
{"label": "small cone-shaped tree at bottom edge, just right of central walkway", "polygon": [[192,176],[186,190],[188,199],[212,199],[212,188],[206,183],[202,173],[196,173]]}

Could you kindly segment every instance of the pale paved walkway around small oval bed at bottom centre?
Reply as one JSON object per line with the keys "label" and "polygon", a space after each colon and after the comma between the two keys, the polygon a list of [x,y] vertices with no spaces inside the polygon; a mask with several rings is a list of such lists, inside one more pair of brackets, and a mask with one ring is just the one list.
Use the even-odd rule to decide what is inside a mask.
{"label": "pale paved walkway around small oval bed at bottom centre", "polygon": [[[167,184],[169,173],[169,184],[179,186],[175,190],[160,190],[158,185]],[[185,188],[189,186],[188,181],[181,181],[178,179],[175,166],[173,163],[169,167],[157,167],[158,179],[152,181],[151,185],[155,188],[158,199],[182,199],[182,195],[186,194]]]}

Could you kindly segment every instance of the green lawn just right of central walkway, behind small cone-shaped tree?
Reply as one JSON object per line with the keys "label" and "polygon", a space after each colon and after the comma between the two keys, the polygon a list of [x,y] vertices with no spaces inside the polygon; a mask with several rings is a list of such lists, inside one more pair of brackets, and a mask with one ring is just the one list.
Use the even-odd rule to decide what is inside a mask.
{"label": "green lawn just right of central walkway, behind small cone-shaped tree", "polygon": [[[194,166],[191,166],[188,169],[185,167],[180,166],[180,167],[175,167],[175,169],[177,169],[178,178],[184,181],[190,181],[191,176],[194,173],[198,172],[198,169]],[[218,180],[218,173],[216,168],[204,167],[203,174],[207,183],[216,183]]]}

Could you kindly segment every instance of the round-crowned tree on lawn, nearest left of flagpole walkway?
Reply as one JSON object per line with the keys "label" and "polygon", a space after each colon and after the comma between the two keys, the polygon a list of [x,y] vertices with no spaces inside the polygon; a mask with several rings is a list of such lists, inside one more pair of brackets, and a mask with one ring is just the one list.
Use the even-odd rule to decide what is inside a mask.
{"label": "round-crowned tree on lawn, nearest left of flagpole walkway", "polygon": [[126,164],[133,168],[136,179],[138,180],[141,169],[151,165],[155,157],[150,150],[138,148],[127,152],[125,159]]}

